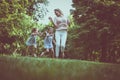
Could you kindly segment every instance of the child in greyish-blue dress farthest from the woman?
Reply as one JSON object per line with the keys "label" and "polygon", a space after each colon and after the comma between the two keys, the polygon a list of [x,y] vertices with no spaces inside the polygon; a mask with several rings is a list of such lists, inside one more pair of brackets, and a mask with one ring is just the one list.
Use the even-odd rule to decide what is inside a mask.
{"label": "child in greyish-blue dress farthest from the woman", "polygon": [[[26,41],[26,45],[28,46],[27,47],[27,53],[28,53],[29,50],[33,50],[33,48],[34,48],[34,51],[36,52],[36,49],[37,49],[37,43],[36,43],[37,35],[39,35],[38,29],[33,28],[32,31],[31,31],[30,37]],[[36,57],[35,52],[33,52],[33,51],[29,51],[29,52],[31,53],[32,56]]]}

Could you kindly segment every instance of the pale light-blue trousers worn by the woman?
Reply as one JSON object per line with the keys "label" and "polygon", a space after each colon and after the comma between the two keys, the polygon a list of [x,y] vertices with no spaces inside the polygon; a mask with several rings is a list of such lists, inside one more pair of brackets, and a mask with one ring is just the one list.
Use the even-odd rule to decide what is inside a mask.
{"label": "pale light-blue trousers worn by the woman", "polygon": [[67,40],[67,30],[56,30],[55,39],[56,39],[55,56],[59,57],[60,50],[61,53],[63,53],[65,49]]}

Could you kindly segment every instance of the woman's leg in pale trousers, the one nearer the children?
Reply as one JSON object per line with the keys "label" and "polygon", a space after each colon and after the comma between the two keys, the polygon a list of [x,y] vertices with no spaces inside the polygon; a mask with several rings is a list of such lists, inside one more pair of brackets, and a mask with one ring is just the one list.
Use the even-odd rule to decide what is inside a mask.
{"label": "woman's leg in pale trousers, the one nearer the children", "polygon": [[58,58],[59,52],[60,52],[60,32],[59,31],[55,32],[55,40],[56,40],[55,56],[56,58]]}

